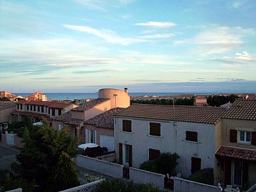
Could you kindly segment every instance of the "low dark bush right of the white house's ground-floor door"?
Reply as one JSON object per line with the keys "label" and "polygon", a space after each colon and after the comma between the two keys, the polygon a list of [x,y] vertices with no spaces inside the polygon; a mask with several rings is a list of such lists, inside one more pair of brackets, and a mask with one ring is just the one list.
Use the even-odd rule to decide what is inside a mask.
{"label": "low dark bush right of the white house's ground-floor door", "polygon": [[191,176],[189,176],[187,179],[191,181],[203,183],[203,184],[213,185],[214,183],[213,169],[212,168],[202,169],[198,172],[191,174]]}

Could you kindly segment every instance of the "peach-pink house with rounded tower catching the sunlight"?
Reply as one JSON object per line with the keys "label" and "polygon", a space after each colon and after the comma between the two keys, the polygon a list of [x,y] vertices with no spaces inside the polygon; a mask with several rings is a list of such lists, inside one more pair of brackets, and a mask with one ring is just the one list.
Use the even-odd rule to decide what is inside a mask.
{"label": "peach-pink house with rounded tower catching the sunlight", "polygon": [[[70,134],[77,136],[81,143],[101,144],[105,141],[112,143],[113,125],[108,124],[108,127],[104,127],[104,122],[98,123],[98,120],[105,118],[107,122],[112,122],[112,109],[127,108],[129,105],[130,97],[127,89],[124,89],[124,91],[120,89],[100,89],[98,98],[86,101],[77,108],[70,110],[70,112],[53,118],[52,127],[55,129],[68,128]],[[90,120],[91,118],[94,119]],[[113,146],[110,148],[112,150]]]}

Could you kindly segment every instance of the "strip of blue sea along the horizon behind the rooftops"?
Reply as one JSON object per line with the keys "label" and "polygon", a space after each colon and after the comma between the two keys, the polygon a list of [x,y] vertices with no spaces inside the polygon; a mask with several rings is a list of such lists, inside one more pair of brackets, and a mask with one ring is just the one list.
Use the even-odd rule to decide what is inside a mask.
{"label": "strip of blue sea along the horizon behind the rooftops", "polygon": [[[29,96],[31,93],[13,93],[18,96]],[[71,100],[82,99],[82,98],[98,98],[98,93],[44,93],[48,101],[57,100]],[[129,96],[169,96],[169,95],[180,95],[184,93],[129,93]],[[188,93],[186,93],[188,94]],[[202,93],[201,93],[202,94]],[[196,94],[200,95],[200,94]]]}

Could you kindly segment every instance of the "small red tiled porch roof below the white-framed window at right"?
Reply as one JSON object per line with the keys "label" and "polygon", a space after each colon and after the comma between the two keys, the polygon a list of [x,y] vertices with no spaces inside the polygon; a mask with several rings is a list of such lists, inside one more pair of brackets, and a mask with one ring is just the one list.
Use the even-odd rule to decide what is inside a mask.
{"label": "small red tiled porch roof below the white-framed window at right", "polygon": [[224,158],[256,161],[256,150],[254,149],[221,146],[215,155]]}

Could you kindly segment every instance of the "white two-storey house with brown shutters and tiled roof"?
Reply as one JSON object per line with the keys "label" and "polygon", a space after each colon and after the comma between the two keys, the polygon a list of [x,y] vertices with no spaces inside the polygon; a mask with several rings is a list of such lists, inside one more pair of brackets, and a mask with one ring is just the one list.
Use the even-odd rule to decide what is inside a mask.
{"label": "white two-storey house with brown shutters and tiled roof", "polygon": [[115,115],[118,162],[139,168],[160,153],[178,153],[177,172],[215,167],[220,141],[222,108],[133,104]]}

